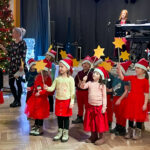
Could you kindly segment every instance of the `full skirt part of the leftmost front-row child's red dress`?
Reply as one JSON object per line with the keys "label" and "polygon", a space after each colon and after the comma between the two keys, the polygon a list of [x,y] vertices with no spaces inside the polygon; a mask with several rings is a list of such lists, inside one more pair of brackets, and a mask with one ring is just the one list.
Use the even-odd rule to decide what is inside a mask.
{"label": "full skirt part of the leftmost front-row child's red dress", "polygon": [[34,94],[28,99],[25,114],[33,119],[45,119],[50,115],[49,102],[45,95],[35,96]]}

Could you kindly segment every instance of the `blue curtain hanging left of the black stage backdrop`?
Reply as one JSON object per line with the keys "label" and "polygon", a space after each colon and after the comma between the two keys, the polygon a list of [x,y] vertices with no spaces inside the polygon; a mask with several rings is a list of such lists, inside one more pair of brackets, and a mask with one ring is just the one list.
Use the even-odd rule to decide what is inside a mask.
{"label": "blue curtain hanging left of the black stage backdrop", "polygon": [[21,26],[26,37],[35,38],[35,56],[44,55],[50,45],[49,0],[21,0]]}

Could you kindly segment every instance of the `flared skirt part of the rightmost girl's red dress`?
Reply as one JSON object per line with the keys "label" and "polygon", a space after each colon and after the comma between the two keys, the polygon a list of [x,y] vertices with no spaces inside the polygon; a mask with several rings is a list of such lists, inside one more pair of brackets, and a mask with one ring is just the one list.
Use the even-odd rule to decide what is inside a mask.
{"label": "flared skirt part of the rightmost girl's red dress", "polygon": [[144,94],[129,93],[125,109],[125,118],[136,122],[148,121],[148,109],[145,111],[143,111],[142,109],[144,105],[144,100]]}

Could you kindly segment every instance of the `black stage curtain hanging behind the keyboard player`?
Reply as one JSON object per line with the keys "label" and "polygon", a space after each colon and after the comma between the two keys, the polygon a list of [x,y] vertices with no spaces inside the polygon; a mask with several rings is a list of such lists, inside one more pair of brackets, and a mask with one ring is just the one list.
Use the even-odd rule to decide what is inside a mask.
{"label": "black stage curtain hanging behind the keyboard player", "polygon": [[55,21],[55,42],[68,40],[68,18],[71,20],[71,42],[82,46],[82,56],[93,55],[100,44],[105,55],[112,58],[115,22],[122,9],[129,11],[128,19],[150,19],[150,0],[137,0],[135,4],[125,0],[50,0],[51,21]]}

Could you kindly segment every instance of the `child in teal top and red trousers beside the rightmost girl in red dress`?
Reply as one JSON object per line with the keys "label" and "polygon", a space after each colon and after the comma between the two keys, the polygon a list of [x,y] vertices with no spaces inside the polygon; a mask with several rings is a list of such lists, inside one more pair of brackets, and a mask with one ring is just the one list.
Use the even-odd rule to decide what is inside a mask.
{"label": "child in teal top and red trousers beside the rightmost girl in red dress", "polygon": [[[127,71],[131,65],[131,61],[123,62],[121,65],[121,71],[123,74]],[[128,94],[129,83],[122,81],[119,77],[111,75],[112,88],[108,90],[113,92],[113,111],[116,117],[116,127],[111,130],[111,133],[124,136],[126,134],[126,119],[124,118],[126,96]]]}

